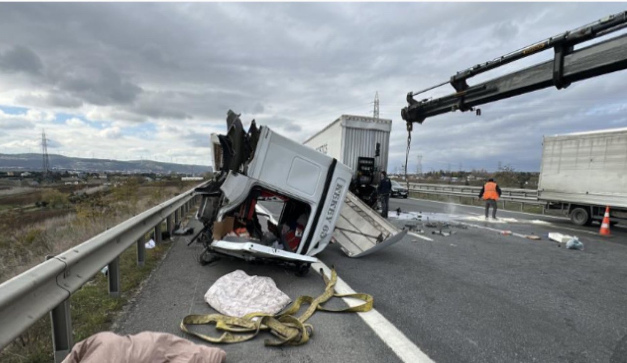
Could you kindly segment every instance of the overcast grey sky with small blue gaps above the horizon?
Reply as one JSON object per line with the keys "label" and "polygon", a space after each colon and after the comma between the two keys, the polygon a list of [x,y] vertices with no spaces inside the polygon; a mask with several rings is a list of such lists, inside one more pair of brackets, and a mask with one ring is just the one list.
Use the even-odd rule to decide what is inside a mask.
{"label": "overcast grey sky with small blue gaps above the horizon", "polygon": [[[0,153],[211,165],[229,109],[294,140],[339,115],[393,120],[408,91],[625,10],[624,3],[0,4]],[[508,66],[508,71],[542,56]],[[495,71],[496,74],[502,72]],[[470,79],[477,83],[495,73]],[[409,171],[539,170],[542,135],[627,126],[627,71],[415,125]],[[450,93],[445,86],[424,96]],[[449,166],[450,165],[450,166]]]}

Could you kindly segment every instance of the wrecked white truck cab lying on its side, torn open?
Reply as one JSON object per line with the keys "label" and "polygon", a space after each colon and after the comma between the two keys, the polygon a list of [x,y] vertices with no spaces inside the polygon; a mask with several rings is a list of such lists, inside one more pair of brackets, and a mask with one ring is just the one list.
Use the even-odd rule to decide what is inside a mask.
{"label": "wrecked white truck cab lying on its side, torn open", "polygon": [[[246,133],[232,112],[227,130],[211,136],[220,174],[197,190],[203,195],[196,217],[204,224],[206,251],[316,262],[313,256],[332,238],[351,170],[254,122]],[[268,200],[280,204],[278,221],[266,210]]]}

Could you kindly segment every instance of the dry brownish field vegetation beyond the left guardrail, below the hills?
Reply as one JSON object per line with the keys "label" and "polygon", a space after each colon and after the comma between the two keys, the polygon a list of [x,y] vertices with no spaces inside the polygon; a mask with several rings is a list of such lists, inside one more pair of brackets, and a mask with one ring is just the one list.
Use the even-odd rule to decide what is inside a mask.
{"label": "dry brownish field vegetation beyond the left guardrail, below the hills", "polygon": [[[72,204],[68,193],[58,190],[11,196],[21,208],[5,210],[0,218],[0,283],[21,274],[78,243],[174,197],[191,185],[144,186],[136,179],[95,193]],[[44,202],[45,207],[33,207]],[[2,199],[6,205],[6,198]]]}

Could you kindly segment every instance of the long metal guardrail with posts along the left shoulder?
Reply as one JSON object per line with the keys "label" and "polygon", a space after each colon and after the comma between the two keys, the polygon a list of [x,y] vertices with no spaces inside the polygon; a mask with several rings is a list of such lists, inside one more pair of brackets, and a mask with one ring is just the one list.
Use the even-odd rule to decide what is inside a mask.
{"label": "long metal guardrail with posts along the left shoulder", "polygon": [[[196,188],[196,187],[195,187]],[[145,233],[155,230],[161,242],[164,220],[174,225],[199,201],[194,189],[136,215],[0,285],[0,349],[50,312],[55,362],[73,345],[70,295],[108,265],[109,294],[120,295],[119,255],[134,243],[137,265],[144,265]],[[174,220],[174,221],[173,221]],[[174,223],[172,223],[174,222]]]}

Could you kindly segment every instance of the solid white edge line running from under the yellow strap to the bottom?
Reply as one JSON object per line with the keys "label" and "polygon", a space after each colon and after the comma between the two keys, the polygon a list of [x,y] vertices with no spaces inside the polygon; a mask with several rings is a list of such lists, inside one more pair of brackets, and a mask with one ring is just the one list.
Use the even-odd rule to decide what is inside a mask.
{"label": "solid white edge line running from under the yellow strap to the bottom", "polygon": [[[320,269],[324,271],[327,276],[331,275],[331,270],[323,262],[312,263],[312,268],[320,274]],[[355,290],[351,289],[344,280],[337,278],[337,284],[335,285],[335,291],[338,294],[354,294]],[[349,306],[357,305],[357,301],[354,299],[342,298]],[[360,302],[361,303],[361,302]],[[387,320],[376,309],[372,309],[369,312],[358,312],[357,315],[366,322],[366,324],[374,331],[383,342],[392,349],[394,353],[403,362],[408,363],[433,363],[433,360],[428,355],[424,354],[418,346],[416,346],[408,337],[400,330],[396,329],[389,320]]]}

